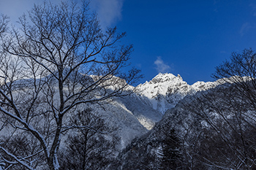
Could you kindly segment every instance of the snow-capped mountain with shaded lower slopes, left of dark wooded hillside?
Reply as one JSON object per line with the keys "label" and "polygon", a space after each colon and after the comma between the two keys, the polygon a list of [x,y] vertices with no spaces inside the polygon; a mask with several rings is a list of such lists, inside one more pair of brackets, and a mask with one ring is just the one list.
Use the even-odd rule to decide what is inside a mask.
{"label": "snow-capped mountain with shaded lower slopes, left of dark wooded hillside", "polygon": [[135,137],[146,134],[162,120],[168,109],[178,104],[185,96],[200,90],[214,88],[217,82],[195,82],[187,84],[178,74],[159,73],[149,82],[136,87],[135,93],[122,98],[113,98],[99,112],[109,117],[108,122],[116,126],[124,148]]}

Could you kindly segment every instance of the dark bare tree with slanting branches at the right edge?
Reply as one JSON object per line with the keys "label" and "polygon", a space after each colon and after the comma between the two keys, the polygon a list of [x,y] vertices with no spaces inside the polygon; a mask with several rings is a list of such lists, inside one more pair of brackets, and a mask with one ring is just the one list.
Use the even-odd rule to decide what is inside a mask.
{"label": "dark bare tree with slanting branches at the right edge", "polygon": [[255,57],[251,49],[233,53],[231,60],[217,66],[213,74],[219,82],[217,88],[184,102],[184,109],[200,116],[204,132],[198,144],[198,156],[208,167],[256,167]]}

